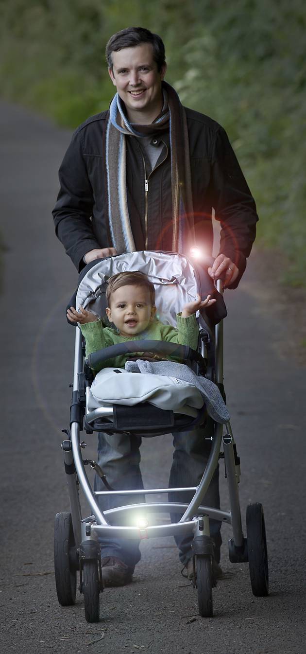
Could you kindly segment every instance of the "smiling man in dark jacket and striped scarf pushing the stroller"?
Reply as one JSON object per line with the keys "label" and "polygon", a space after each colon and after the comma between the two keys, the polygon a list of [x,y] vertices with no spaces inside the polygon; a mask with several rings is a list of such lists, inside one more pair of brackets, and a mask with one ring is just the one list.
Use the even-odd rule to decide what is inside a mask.
{"label": "smiling man in dark jacket and striped scarf pushing the stroller", "polygon": [[[228,137],[214,120],[182,107],[163,81],[167,65],[158,35],[141,27],[114,34],[106,48],[116,95],[109,111],[76,129],[59,169],[56,233],[78,271],[95,259],[133,250],[213,246],[212,211],[222,230],[220,253],[209,268],[236,288],[256,232],[256,207]],[[209,432],[211,426],[207,425]],[[208,433],[207,432],[207,433]],[[203,430],[174,434],[169,486],[194,486],[209,455]],[[98,461],[112,487],[142,489],[141,439],[99,434]],[[95,483],[99,489],[99,479]],[[186,494],[175,500],[186,502]],[[120,498],[120,504],[126,502]],[[141,495],[139,495],[141,501]],[[205,498],[219,506],[218,471]],[[112,500],[101,504],[106,509]],[[175,517],[174,517],[175,518]],[[215,569],[220,523],[211,521]],[[176,538],[190,573],[191,539]],[[105,585],[131,580],[139,543],[101,543]]]}

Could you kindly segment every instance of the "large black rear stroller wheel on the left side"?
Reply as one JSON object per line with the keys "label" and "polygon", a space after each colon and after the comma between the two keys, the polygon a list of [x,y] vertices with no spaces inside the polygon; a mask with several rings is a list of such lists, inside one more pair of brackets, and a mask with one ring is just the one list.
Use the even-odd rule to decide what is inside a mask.
{"label": "large black rear stroller wheel on the left side", "polygon": [[71,513],[57,513],[54,524],[54,570],[56,593],[61,606],[75,604],[76,568],[71,561],[74,551],[75,537]]}

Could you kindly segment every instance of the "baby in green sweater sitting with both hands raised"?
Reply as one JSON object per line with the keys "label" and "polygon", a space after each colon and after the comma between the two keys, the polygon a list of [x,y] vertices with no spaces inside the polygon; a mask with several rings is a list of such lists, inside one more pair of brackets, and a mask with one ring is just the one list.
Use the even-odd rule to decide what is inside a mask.
{"label": "baby in green sweater sitting with both hands raised", "polygon": [[[86,339],[86,356],[109,345],[124,341],[153,340],[179,343],[197,349],[199,329],[196,311],[211,306],[216,300],[207,296],[184,305],[182,313],[177,314],[177,329],[164,325],[156,319],[155,289],[146,275],[139,271],[118,273],[107,282],[107,317],[116,329],[105,327],[100,318],[80,307],[78,311],[71,307],[67,318],[78,322]],[[107,362],[107,366],[124,368],[129,354],[116,356]],[[169,357],[171,358],[171,357]],[[100,364],[101,370],[105,364]]]}

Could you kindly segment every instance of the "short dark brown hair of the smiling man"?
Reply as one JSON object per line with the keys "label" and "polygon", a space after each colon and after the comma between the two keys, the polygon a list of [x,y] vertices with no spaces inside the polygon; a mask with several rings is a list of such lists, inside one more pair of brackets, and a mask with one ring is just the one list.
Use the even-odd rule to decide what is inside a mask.
{"label": "short dark brown hair of the smiling man", "polygon": [[156,61],[158,72],[165,63],[165,46],[158,34],[150,32],[145,27],[126,27],[110,37],[105,48],[105,55],[109,68],[112,69],[112,52],[122,48],[135,48],[141,43],[150,43],[153,48],[153,59]]}

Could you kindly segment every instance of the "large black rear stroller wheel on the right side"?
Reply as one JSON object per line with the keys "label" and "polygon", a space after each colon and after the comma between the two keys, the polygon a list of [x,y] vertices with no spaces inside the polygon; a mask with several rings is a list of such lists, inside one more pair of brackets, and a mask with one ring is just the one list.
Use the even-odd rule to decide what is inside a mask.
{"label": "large black rear stroller wheel on the right side", "polygon": [[264,597],[269,594],[269,570],[264,509],[259,502],[247,507],[247,542],[252,593]]}

